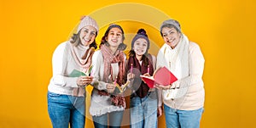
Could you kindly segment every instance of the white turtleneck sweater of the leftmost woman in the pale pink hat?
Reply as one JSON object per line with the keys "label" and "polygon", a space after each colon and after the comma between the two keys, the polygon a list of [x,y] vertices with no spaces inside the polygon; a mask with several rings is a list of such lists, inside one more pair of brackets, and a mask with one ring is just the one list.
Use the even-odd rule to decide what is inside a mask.
{"label": "white turtleneck sweater of the leftmost woman in the pale pink hat", "polygon": [[[77,86],[78,77],[68,77],[73,70],[81,70],[79,64],[76,64],[69,41],[62,42],[55,48],[52,57],[53,76],[49,81],[48,91],[57,94],[73,95],[73,89]],[[89,47],[79,44],[79,58],[82,58],[84,51]]]}

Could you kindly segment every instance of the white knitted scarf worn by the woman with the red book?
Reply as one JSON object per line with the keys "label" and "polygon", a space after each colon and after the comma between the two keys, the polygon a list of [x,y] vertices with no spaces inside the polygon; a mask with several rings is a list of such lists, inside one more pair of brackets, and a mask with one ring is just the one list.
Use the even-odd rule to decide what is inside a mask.
{"label": "white knitted scarf worn by the woman with the red book", "polygon": [[[172,49],[164,44],[164,55],[168,63],[167,67],[181,80],[189,76],[189,39],[187,36],[182,35],[177,47]],[[163,90],[163,96],[166,100],[171,98],[183,97],[188,88],[180,88],[179,85],[173,86],[174,89]]]}

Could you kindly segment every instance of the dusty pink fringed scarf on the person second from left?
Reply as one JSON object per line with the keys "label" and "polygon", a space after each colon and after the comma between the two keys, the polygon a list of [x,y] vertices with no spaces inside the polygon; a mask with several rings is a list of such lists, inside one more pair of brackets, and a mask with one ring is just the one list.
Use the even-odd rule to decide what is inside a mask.
{"label": "dusty pink fringed scarf on the person second from left", "polygon": [[[112,50],[104,44],[101,46],[101,51],[104,59],[103,81],[108,83],[115,81],[115,78],[113,78],[113,69],[111,64],[118,63],[119,74],[117,76],[116,82],[119,85],[124,84],[123,78],[125,75],[125,56],[124,56],[125,53],[123,53],[120,50],[117,50],[115,53],[113,53]],[[110,75],[110,78],[109,78],[109,75]],[[98,91],[98,93],[103,96],[109,95],[109,93],[105,91]],[[125,97],[111,94],[111,101],[113,105],[123,106],[125,108]]]}

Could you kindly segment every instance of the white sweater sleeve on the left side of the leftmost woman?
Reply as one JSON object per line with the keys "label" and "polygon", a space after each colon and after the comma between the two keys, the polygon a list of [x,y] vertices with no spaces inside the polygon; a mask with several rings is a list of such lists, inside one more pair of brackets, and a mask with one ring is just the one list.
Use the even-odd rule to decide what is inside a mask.
{"label": "white sweater sleeve on the left side of the leftmost woman", "polygon": [[56,86],[78,87],[77,77],[67,77],[65,75],[67,68],[67,42],[61,43],[56,47],[52,57],[53,82]]}

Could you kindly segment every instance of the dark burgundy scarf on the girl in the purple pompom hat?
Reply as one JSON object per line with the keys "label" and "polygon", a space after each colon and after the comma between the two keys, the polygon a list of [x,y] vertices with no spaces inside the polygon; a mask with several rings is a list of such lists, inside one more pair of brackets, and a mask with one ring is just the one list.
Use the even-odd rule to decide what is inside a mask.
{"label": "dark burgundy scarf on the girl in the purple pompom hat", "polygon": [[[148,58],[143,55],[143,58],[146,58],[145,61],[148,61],[149,65],[149,75],[153,75],[154,73],[154,68],[152,64],[152,57],[150,54],[148,54]],[[143,62],[142,65],[139,63],[137,60],[136,56],[131,56],[128,60],[128,69],[131,69],[131,64],[133,65],[133,68],[136,68],[137,70],[133,70],[132,73],[135,74],[135,79],[132,83],[132,88],[136,91],[136,94],[138,97],[145,97],[148,94],[149,87],[146,83],[144,83],[140,75],[143,75],[148,72],[148,65],[144,65],[145,63]]]}

